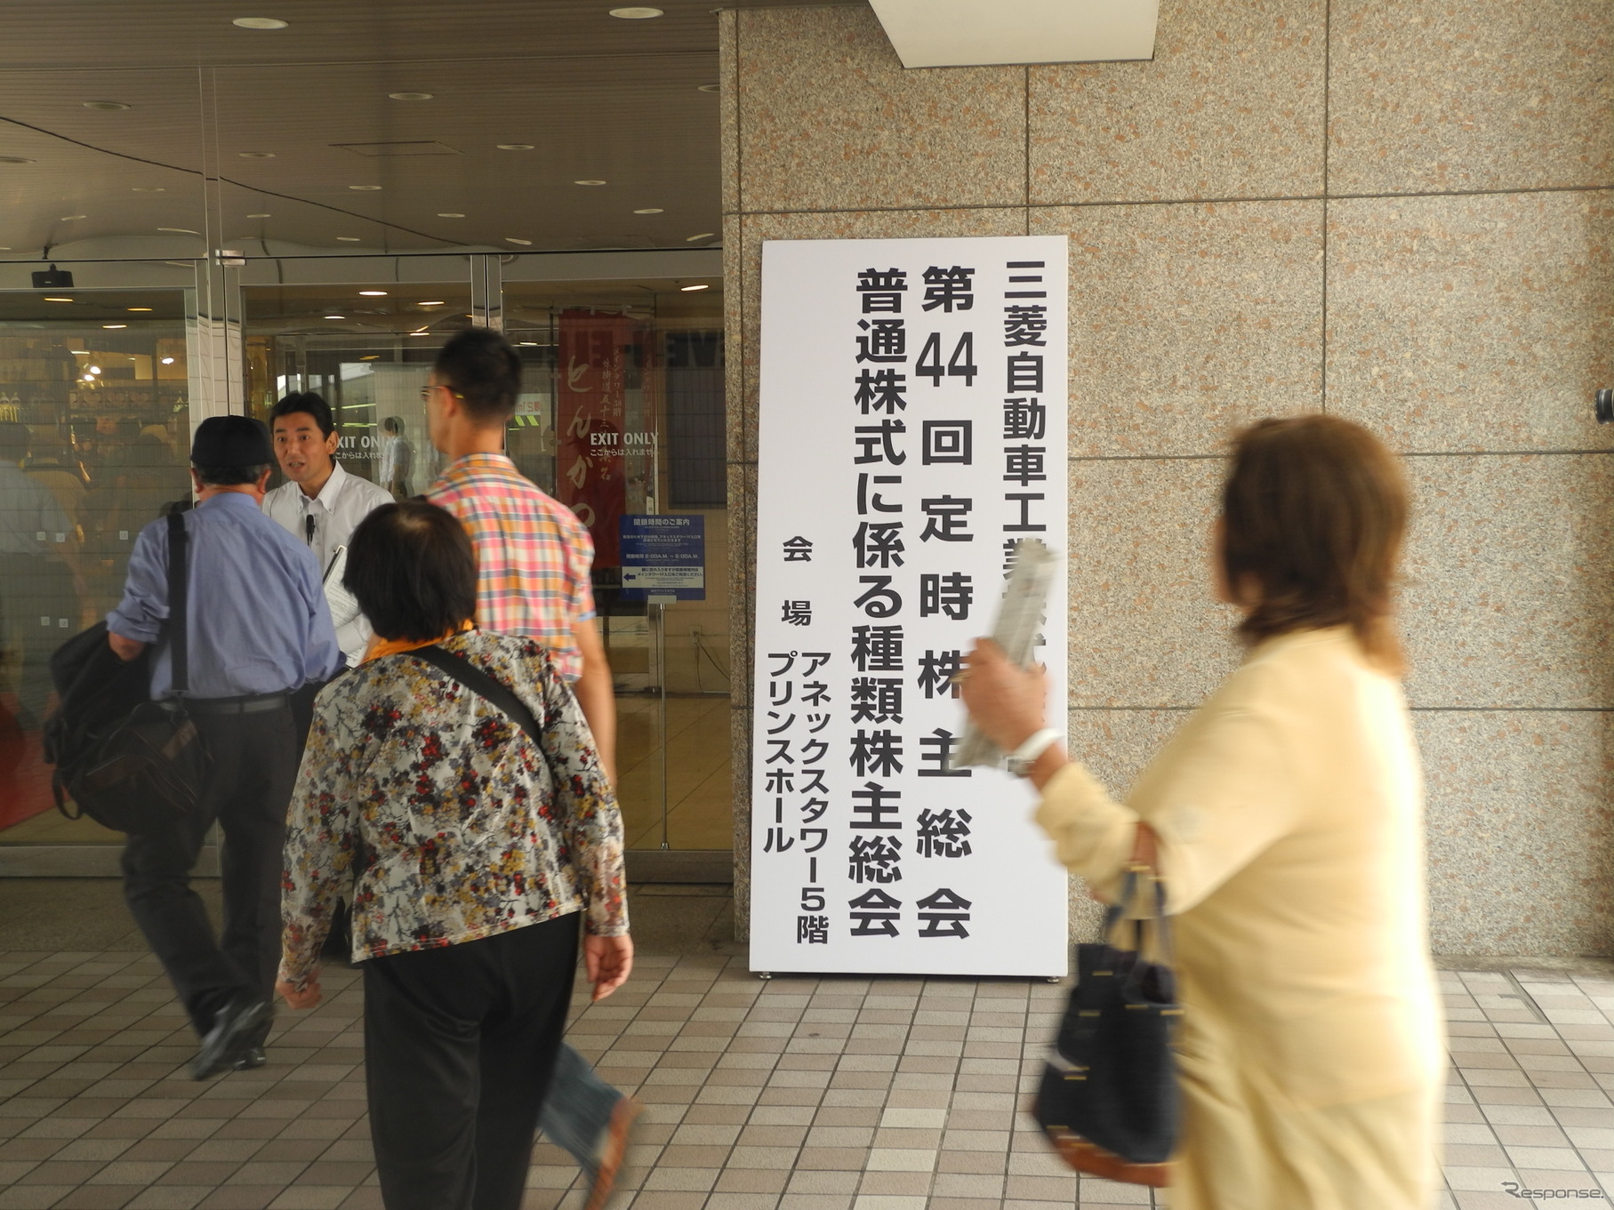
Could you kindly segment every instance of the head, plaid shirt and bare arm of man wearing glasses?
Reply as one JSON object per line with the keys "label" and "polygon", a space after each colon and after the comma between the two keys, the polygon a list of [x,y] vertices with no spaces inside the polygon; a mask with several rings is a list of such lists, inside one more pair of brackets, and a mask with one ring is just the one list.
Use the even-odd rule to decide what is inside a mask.
{"label": "head, plaid shirt and bare arm of man wearing glasses", "polygon": [[594,540],[504,453],[521,392],[521,358],[489,328],[468,328],[437,353],[428,386],[431,442],[449,458],[426,499],[454,513],[476,547],[476,624],[531,636],[555,653],[617,781],[617,695],[594,624]]}

